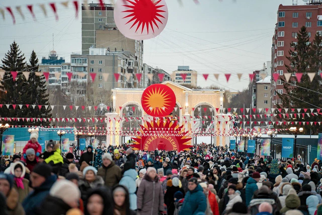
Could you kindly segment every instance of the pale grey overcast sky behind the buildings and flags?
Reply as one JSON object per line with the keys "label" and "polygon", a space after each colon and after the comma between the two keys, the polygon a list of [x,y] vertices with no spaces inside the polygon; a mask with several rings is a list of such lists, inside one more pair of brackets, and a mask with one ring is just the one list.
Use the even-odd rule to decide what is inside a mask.
{"label": "pale grey overcast sky behind the buildings and flags", "polygon": [[[247,87],[248,74],[270,61],[270,50],[279,4],[292,5],[292,0],[166,0],[169,17],[164,31],[144,41],[143,62],[172,73],[177,66],[190,66],[198,72],[198,85],[217,86],[239,91]],[[72,52],[81,53],[81,16],[75,18],[72,1],[64,8],[57,3],[56,21],[47,0],[1,0],[0,7],[21,5],[25,19],[14,9],[16,24],[9,13],[0,14],[0,58],[15,40],[26,58],[34,49],[37,56],[48,56],[54,50],[70,62]],[[91,2],[91,1],[89,1]],[[94,0],[94,3],[99,2]],[[109,3],[109,1],[105,1]],[[301,0],[298,0],[303,4]],[[33,4],[33,21],[26,4]],[[48,17],[38,4],[45,4]],[[81,14],[80,14],[81,15]],[[219,73],[219,80],[213,74]],[[227,83],[225,73],[231,73]],[[243,73],[239,82],[237,73]],[[207,81],[202,74],[209,74]]]}

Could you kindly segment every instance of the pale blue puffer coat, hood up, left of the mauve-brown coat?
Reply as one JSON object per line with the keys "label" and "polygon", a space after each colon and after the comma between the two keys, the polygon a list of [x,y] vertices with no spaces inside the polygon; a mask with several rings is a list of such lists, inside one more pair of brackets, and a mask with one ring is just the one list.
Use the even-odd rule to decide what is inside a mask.
{"label": "pale blue puffer coat, hood up, left of the mauve-brown coat", "polygon": [[131,210],[137,210],[137,195],[135,194],[135,191],[137,190],[135,184],[136,178],[137,171],[135,169],[128,169],[124,172],[123,178],[119,182],[120,185],[123,185],[128,189]]}

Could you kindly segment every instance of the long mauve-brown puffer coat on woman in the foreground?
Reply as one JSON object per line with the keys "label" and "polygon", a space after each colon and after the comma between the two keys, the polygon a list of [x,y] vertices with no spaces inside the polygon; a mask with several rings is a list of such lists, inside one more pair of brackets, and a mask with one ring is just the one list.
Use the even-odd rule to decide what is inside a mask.
{"label": "long mauve-brown puffer coat on woman in the foreground", "polygon": [[164,211],[164,197],[159,177],[152,180],[145,175],[137,189],[137,209],[140,215],[154,215]]}

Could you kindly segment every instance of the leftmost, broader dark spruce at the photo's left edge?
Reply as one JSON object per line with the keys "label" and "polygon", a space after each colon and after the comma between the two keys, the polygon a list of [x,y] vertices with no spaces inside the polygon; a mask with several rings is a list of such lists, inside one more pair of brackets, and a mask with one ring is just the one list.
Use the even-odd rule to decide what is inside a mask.
{"label": "leftmost, broader dark spruce at the photo's left edge", "polygon": [[[22,54],[19,46],[14,41],[10,45],[10,50],[2,59],[3,65],[1,68],[5,70],[5,75],[3,80],[1,80],[0,86],[0,89],[3,91],[0,98],[0,104],[3,104],[3,107],[0,108],[0,116],[3,118],[26,118],[29,116],[29,110],[25,106],[22,109],[18,107],[18,104],[28,104],[29,93],[31,91],[31,86],[27,85],[22,74],[26,67],[24,60],[24,54]],[[15,81],[10,71],[18,72]],[[17,106],[15,108],[13,106],[7,108],[6,104],[16,104]],[[27,124],[23,120],[13,120],[11,122],[2,120],[2,123],[9,123],[10,125]]]}

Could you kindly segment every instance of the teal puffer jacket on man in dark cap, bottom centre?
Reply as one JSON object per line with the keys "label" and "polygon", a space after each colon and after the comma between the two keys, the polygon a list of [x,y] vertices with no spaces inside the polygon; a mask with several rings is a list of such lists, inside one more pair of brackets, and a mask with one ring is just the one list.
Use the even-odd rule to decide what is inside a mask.
{"label": "teal puffer jacket on man in dark cap, bottom centre", "polygon": [[196,215],[205,212],[207,209],[206,196],[202,187],[198,184],[194,190],[189,190],[185,194],[185,200],[179,211],[179,215]]}

